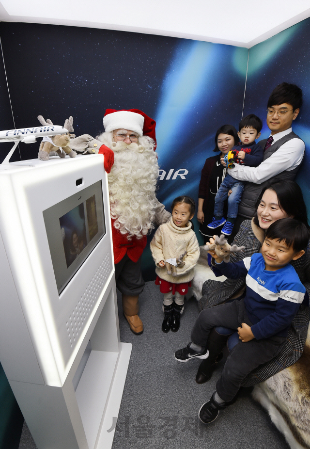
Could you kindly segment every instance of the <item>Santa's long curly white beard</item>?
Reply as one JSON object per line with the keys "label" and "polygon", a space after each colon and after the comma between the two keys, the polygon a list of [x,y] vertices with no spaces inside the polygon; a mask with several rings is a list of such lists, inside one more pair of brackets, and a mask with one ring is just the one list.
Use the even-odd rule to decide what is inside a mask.
{"label": "Santa's long curly white beard", "polygon": [[139,144],[113,142],[111,133],[103,133],[97,139],[114,151],[114,164],[108,174],[114,227],[127,234],[128,240],[133,236],[141,239],[154,228],[159,174],[154,141],[144,136],[139,138]]}

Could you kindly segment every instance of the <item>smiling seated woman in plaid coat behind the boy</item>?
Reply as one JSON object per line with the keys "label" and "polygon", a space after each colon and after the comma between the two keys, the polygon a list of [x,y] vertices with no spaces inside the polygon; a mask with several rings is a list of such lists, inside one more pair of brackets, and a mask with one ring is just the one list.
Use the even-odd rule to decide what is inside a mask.
{"label": "smiling seated woman in plaid coat behind the boy", "polygon": [[[300,187],[294,181],[278,181],[271,183],[260,195],[257,213],[252,220],[245,220],[236,235],[233,244],[245,246],[242,253],[232,254],[231,262],[250,257],[260,252],[264,240],[265,229],[280,218],[292,217],[300,220],[307,227],[307,209]],[[293,365],[301,356],[307,338],[309,325],[309,296],[310,296],[310,242],[304,256],[293,260],[292,265],[301,282],[306,288],[303,304],[300,306],[290,327],[286,344],[274,359],[252,371],[243,380],[242,386],[258,384],[282,369]],[[214,269],[216,271],[216,269]],[[221,273],[220,273],[221,275]],[[224,282],[207,280],[202,286],[202,298],[199,301],[200,310],[221,304],[228,299],[241,298],[245,290],[245,278],[227,279]],[[216,332],[209,336],[207,345],[225,345],[225,337]],[[228,336],[226,337],[227,340]],[[216,361],[209,358],[202,361],[196,376],[196,382],[203,383],[210,379]]]}

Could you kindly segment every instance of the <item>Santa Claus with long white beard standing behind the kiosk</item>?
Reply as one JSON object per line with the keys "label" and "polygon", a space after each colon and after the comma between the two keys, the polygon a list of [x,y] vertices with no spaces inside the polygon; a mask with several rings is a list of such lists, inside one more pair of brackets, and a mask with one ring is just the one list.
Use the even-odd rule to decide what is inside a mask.
{"label": "Santa Claus with long white beard standing behind the kiosk", "polygon": [[[104,133],[96,139],[89,136],[87,151],[99,152],[105,157],[116,286],[122,293],[123,312],[130,329],[140,335],[143,324],[138,316],[139,295],[145,285],[141,256],[146,235],[154,228],[154,223],[165,223],[171,216],[155,195],[158,177],[156,124],[138,109],[107,109],[103,125]],[[73,146],[77,152],[86,152],[84,144]]]}

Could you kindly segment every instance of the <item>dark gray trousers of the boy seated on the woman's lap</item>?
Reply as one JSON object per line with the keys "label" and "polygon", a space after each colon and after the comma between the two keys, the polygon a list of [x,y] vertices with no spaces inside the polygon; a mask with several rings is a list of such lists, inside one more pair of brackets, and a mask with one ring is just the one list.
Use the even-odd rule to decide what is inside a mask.
{"label": "dark gray trousers of the boy seated on the woman's lap", "polygon": [[[223,326],[237,330],[243,322],[252,325],[243,299],[204,309],[194,324],[191,341],[205,346],[212,328]],[[253,338],[246,343],[239,340],[227,357],[222,375],[217,381],[218,396],[225,402],[232,401],[248,373],[274,358],[281,351],[285,340],[286,337],[277,336],[260,340]]]}

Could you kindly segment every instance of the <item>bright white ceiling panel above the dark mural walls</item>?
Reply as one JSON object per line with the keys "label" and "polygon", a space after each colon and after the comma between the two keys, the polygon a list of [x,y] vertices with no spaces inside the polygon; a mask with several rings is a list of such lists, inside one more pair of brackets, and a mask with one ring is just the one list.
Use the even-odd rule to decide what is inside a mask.
{"label": "bright white ceiling panel above the dark mural walls", "polygon": [[250,48],[310,17],[310,0],[0,0],[0,20],[184,37]]}

